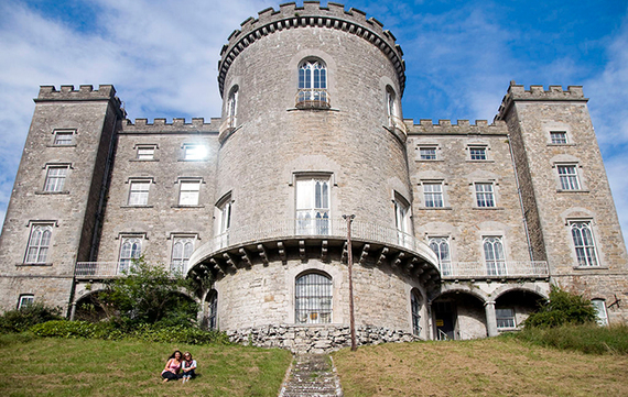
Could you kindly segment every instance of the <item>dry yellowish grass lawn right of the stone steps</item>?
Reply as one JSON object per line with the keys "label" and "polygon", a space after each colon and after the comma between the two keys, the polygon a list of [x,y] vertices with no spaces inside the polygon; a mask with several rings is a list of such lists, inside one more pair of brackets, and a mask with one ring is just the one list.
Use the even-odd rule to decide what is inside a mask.
{"label": "dry yellowish grass lawn right of the stone steps", "polygon": [[628,396],[628,355],[515,338],[360,346],[333,356],[345,397]]}

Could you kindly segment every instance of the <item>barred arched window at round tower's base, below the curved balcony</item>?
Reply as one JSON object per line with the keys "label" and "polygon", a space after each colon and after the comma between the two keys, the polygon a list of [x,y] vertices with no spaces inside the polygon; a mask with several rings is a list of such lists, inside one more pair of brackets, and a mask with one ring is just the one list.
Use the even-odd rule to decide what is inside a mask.
{"label": "barred arched window at round tower's base, below the curved balcony", "polygon": [[297,323],[332,322],[332,277],[321,273],[299,276],[294,288],[294,311]]}

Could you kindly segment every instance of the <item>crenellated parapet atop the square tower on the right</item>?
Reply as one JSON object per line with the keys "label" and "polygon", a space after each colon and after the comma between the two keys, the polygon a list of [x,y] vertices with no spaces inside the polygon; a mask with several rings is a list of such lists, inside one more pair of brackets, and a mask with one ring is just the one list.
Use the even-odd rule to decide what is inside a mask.
{"label": "crenellated parapet atop the square tower on the right", "polygon": [[508,92],[501,100],[499,110],[495,120],[504,120],[506,113],[512,106],[515,101],[588,101],[588,98],[584,97],[582,86],[569,86],[566,90],[563,90],[562,86],[550,86],[549,89],[544,89],[543,86],[530,86],[529,90],[526,90],[523,85],[518,85],[513,80],[510,81],[510,87],[508,87]]}

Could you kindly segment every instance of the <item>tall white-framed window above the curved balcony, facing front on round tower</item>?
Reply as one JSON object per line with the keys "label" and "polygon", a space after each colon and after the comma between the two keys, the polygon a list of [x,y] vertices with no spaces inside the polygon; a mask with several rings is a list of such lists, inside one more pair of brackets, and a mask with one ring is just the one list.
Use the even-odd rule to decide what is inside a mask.
{"label": "tall white-framed window above the curved balcony, facing front on round tower", "polygon": [[296,179],[296,228],[300,234],[329,233],[329,178]]}

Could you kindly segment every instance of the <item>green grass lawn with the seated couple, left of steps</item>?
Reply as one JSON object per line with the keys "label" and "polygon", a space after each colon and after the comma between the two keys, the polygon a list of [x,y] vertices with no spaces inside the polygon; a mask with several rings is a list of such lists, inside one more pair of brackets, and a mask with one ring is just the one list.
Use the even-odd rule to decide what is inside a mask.
{"label": "green grass lawn with the seated couple, left of steps", "polygon": [[[174,349],[198,376],[162,384]],[[292,355],[283,350],[0,335],[0,396],[277,396]]]}

